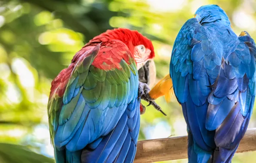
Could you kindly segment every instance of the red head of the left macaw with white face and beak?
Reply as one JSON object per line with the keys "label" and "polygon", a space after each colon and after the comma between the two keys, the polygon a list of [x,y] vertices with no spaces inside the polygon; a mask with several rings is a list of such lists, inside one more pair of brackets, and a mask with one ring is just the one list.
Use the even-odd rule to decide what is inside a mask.
{"label": "red head of the left macaw with white face and beak", "polygon": [[94,42],[94,40],[97,40],[95,43],[107,41],[106,39],[118,39],[127,45],[136,61],[140,82],[152,87],[156,77],[155,63],[153,61],[155,52],[152,42],[136,30],[116,28],[94,37],[90,43]]}

